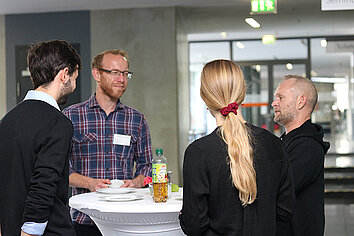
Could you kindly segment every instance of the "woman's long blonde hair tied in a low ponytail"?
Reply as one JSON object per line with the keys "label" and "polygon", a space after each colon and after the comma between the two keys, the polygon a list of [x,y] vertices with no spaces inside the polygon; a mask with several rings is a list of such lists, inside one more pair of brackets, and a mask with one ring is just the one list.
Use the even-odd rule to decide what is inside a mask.
{"label": "woman's long blonde hair tied in a low ponytail", "polygon": [[[241,104],[245,95],[246,84],[241,68],[236,63],[215,60],[204,66],[200,96],[210,109],[219,112],[230,103]],[[232,182],[239,191],[242,205],[246,206],[256,199],[257,183],[253,166],[251,133],[240,117],[241,114],[236,115],[233,112],[225,115],[221,136],[228,145],[228,163]]]}

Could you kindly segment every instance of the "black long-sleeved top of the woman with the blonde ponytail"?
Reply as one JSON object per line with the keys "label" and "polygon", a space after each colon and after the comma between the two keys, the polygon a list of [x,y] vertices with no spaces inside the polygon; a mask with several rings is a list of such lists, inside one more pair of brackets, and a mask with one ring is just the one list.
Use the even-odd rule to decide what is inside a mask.
{"label": "black long-sleeved top of the woman with the blonde ponytail", "polygon": [[285,148],[279,138],[249,125],[257,175],[257,199],[242,206],[232,183],[227,145],[220,128],[185,151],[183,207],[187,235],[288,235],[294,189]]}

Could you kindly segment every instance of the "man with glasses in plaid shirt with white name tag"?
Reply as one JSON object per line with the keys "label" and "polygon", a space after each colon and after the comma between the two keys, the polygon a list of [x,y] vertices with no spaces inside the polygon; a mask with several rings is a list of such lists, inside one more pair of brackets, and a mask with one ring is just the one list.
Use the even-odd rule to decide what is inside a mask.
{"label": "man with glasses in plaid shirt with white name tag", "polygon": [[[98,54],[92,74],[96,93],[63,111],[74,126],[69,177],[73,195],[106,188],[112,179],[123,180],[122,187],[141,187],[151,176],[151,138],[144,115],[120,102],[133,74],[126,52]],[[78,236],[101,235],[87,215],[75,209],[71,214]]]}

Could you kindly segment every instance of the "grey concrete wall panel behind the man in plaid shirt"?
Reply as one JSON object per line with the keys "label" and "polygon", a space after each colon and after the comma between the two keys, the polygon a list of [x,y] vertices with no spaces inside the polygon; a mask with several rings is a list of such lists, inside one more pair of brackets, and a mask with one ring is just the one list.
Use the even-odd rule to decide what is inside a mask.
{"label": "grey concrete wall panel behind the man in plaid shirt", "polygon": [[[111,48],[127,51],[134,74],[121,100],[145,115],[153,152],[155,148],[164,149],[168,169],[173,171],[172,181],[179,184],[179,128],[185,126],[185,121],[179,125],[182,111],[179,110],[178,94],[182,91],[178,90],[178,74],[183,71],[185,75],[186,65],[181,70],[177,68],[176,24],[173,7],[91,12],[92,57]],[[182,54],[185,56],[185,51]],[[184,85],[182,90],[186,89]],[[182,113],[182,116],[188,116],[188,113]]]}

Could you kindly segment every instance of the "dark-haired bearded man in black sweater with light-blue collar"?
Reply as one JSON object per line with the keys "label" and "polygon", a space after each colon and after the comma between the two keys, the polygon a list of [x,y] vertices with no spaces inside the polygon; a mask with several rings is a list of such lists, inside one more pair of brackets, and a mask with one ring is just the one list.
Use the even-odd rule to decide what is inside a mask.
{"label": "dark-haired bearded man in black sweater with light-blue collar", "polygon": [[3,236],[75,235],[67,206],[73,127],[58,104],[75,90],[81,59],[65,41],[33,45],[34,90],[0,121]]}

